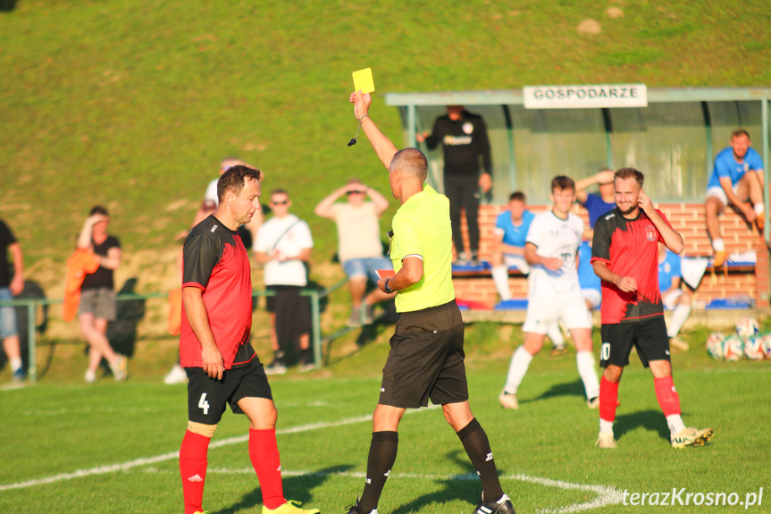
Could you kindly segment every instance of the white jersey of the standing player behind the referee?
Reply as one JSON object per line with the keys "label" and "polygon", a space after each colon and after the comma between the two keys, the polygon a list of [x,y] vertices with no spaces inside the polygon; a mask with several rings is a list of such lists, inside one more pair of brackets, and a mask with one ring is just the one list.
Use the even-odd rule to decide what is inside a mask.
{"label": "white jersey of the standing player behind the referee", "polygon": [[562,295],[581,291],[576,269],[576,255],[581,245],[583,220],[568,213],[561,220],[552,211],[546,211],[533,218],[527,232],[527,242],[534,244],[541,257],[558,257],[562,266],[552,271],[543,265],[532,265],[530,272],[530,298],[541,295]]}

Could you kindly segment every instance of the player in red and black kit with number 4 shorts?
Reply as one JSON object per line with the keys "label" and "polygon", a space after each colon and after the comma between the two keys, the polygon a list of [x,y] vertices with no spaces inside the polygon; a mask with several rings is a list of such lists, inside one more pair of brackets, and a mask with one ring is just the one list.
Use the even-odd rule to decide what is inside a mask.
{"label": "player in red and black kit with number 4 shorts", "polygon": [[183,249],[180,364],[188,374],[188,431],[180,449],[185,514],[204,512],[209,441],[225,405],[249,418],[249,458],[263,514],[315,514],[284,499],[271,386],[249,343],[252,282],[238,233],[260,208],[260,173],[231,167],[217,183],[213,215],[190,231]]}

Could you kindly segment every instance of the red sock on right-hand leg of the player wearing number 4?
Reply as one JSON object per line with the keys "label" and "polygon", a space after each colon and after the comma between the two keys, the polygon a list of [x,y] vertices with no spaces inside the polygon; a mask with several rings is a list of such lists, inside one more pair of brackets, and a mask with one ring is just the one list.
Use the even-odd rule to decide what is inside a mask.
{"label": "red sock on right-hand leg of the player wearing number 4", "polygon": [[278,509],[286,503],[281,485],[281,459],[276,443],[276,429],[249,429],[249,459],[255,468],[260,489],[263,492],[263,505],[268,509]]}

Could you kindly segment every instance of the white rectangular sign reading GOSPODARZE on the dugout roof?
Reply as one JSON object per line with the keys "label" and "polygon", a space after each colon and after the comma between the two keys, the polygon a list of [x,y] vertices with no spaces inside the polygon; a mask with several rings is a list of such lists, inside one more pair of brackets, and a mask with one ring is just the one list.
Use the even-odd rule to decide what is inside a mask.
{"label": "white rectangular sign reading GOSPODARZE on the dugout roof", "polygon": [[648,88],[645,84],[525,86],[523,93],[525,109],[648,106]]}

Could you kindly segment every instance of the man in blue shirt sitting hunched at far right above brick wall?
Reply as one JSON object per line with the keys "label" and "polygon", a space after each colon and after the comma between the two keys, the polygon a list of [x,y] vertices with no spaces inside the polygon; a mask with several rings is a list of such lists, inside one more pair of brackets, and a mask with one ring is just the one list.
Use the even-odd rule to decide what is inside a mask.
{"label": "man in blue shirt sitting hunched at far right above brick wall", "polygon": [[[725,263],[725,243],[720,237],[720,225],[717,216],[721,215],[729,204],[742,212],[747,221],[758,224],[763,231],[763,159],[750,148],[750,134],[738,130],[731,136],[731,146],[723,149],[715,157],[715,168],[707,184],[707,202],[704,205],[707,215],[707,232],[715,250],[713,266]],[[747,205],[750,200],[752,206]]]}

